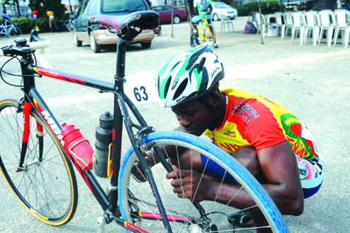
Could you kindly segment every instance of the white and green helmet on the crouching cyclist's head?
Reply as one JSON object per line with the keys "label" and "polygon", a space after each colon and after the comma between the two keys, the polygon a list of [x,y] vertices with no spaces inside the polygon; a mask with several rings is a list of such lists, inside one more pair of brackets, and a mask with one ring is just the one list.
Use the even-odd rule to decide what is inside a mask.
{"label": "white and green helmet on the crouching cyclist's head", "polygon": [[209,92],[223,77],[223,65],[210,43],[180,52],[165,62],[158,72],[159,103],[163,107],[173,107],[195,100]]}

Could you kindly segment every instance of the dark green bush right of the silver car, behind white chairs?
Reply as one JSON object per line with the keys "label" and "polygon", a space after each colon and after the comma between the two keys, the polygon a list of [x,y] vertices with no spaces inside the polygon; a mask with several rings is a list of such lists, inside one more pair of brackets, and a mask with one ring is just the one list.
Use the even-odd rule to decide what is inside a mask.
{"label": "dark green bush right of the silver car, behind white chairs", "polygon": [[[270,1],[269,8],[266,6],[267,1],[262,1],[262,13],[267,14],[279,11],[279,1],[272,0]],[[233,8],[237,9],[238,16],[248,16],[251,11],[259,11],[259,1],[253,1],[243,6],[233,6]]]}

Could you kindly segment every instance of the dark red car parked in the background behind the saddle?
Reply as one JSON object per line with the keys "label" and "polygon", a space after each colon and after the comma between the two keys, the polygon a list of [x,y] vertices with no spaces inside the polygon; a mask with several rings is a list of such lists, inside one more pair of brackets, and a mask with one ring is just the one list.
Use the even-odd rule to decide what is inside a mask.
{"label": "dark red car parked in the background behind the saddle", "polygon": [[[159,23],[171,22],[171,14],[173,11],[173,6],[152,6],[152,10],[158,12]],[[174,7],[174,23],[180,23],[181,20],[187,19],[187,13],[185,9],[179,9]]]}

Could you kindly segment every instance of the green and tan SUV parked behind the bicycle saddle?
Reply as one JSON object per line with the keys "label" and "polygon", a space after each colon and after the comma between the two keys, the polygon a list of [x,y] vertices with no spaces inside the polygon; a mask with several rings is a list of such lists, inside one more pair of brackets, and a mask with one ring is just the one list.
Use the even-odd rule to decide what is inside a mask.
{"label": "green and tan SUV parked behind the bicycle saddle", "polygon": [[[88,20],[92,16],[124,18],[125,15],[134,11],[146,10],[149,8],[145,0],[83,0],[78,11],[70,16],[74,19],[74,44],[76,47],[81,47],[82,42],[89,42],[94,53],[100,52],[104,44],[116,44],[118,37],[98,25],[88,27]],[[141,43],[143,48],[149,48],[153,38],[153,30],[144,30],[135,37],[132,43]]]}

